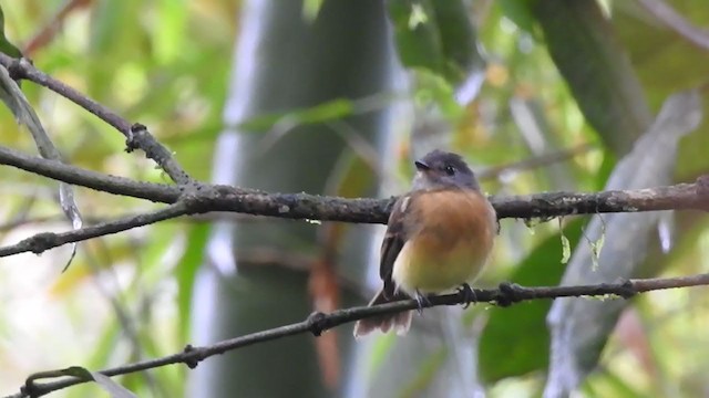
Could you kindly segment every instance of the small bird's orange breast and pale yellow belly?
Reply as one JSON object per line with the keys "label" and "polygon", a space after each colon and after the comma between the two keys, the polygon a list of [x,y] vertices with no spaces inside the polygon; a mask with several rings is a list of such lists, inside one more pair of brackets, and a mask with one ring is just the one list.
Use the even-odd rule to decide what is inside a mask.
{"label": "small bird's orange breast and pale yellow belly", "polygon": [[496,231],[487,199],[472,190],[432,191],[410,206],[410,235],[392,270],[399,289],[438,293],[475,280]]}

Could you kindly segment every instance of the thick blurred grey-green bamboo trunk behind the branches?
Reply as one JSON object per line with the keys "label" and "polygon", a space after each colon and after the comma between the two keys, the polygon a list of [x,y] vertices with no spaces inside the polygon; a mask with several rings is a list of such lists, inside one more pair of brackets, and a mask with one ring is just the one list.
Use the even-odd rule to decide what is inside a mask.
{"label": "thick blurred grey-green bamboo trunk behind the branches", "polygon": [[[384,7],[378,0],[323,2],[312,22],[300,1],[244,4],[227,125],[257,115],[311,107],[335,98],[357,100],[390,88],[392,51]],[[373,146],[387,127],[384,111],[350,116],[347,123]],[[223,133],[215,156],[215,180],[268,191],[323,192],[336,161],[349,150],[326,125]],[[373,179],[372,179],[373,181]],[[361,195],[374,195],[376,184]],[[317,252],[321,226],[302,221],[255,220],[218,224],[194,292],[193,331],[197,344],[254,333],[305,320],[312,311],[308,274],[287,264],[249,264],[239,253],[267,248],[290,256]],[[342,244],[340,272],[363,279],[369,235],[351,228]],[[361,274],[361,275],[360,275]],[[361,298],[358,298],[361,303]],[[345,297],[342,305],[353,304]],[[351,328],[337,332],[341,363],[349,362]],[[209,358],[192,374],[191,397],[332,396],[312,336],[300,335]]]}

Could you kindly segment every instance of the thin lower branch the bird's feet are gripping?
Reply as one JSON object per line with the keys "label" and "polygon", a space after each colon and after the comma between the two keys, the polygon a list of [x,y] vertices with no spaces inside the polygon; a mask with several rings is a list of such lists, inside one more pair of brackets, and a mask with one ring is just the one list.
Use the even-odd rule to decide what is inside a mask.
{"label": "thin lower branch the bird's feet are gripping", "polygon": [[[582,296],[614,296],[630,298],[638,293],[689,287],[709,284],[709,273],[692,276],[666,277],[666,279],[637,279],[625,280],[617,283],[602,283],[597,285],[577,285],[577,286],[542,286],[542,287],[523,287],[517,284],[502,283],[497,289],[482,290],[474,289],[475,302],[493,303],[500,306],[507,306],[523,301],[541,300],[541,298],[558,298],[558,297],[582,297]],[[428,303],[422,303],[423,307],[433,307],[441,305],[459,305],[465,304],[463,293],[434,295],[430,296]],[[285,325],[268,331],[256,332],[240,337],[222,341],[208,346],[194,347],[187,345],[181,353],[168,355],[161,358],[138,362],[134,364],[123,365],[115,368],[101,370],[105,376],[126,375],[146,369],[153,369],[166,365],[185,364],[189,368],[195,368],[202,360],[225,354],[237,348],[250,346],[254,344],[270,342],[287,336],[295,336],[304,333],[312,333],[320,336],[322,332],[329,331],[342,324],[363,320],[367,317],[393,314],[408,310],[417,310],[418,302],[415,300],[404,300],[393,303],[376,305],[371,307],[359,306],[333,311],[329,314],[312,313],[305,321]],[[6,398],[25,398],[40,397],[59,389],[63,389],[73,385],[86,383],[79,378],[64,378],[56,381],[45,384],[34,384],[32,376],[28,378],[28,383],[20,389],[20,392],[7,396]]]}

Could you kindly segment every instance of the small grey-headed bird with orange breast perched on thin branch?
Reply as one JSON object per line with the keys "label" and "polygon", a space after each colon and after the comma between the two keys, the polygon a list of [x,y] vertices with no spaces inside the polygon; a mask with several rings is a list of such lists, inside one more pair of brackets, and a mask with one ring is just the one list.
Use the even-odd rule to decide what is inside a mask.
{"label": "small grey-headed bird with orange breast perched on thin branch", "polygon": [[[411,191],[394,203],[381,244],[383,289],[369,306],[470,285],[481,273],[497,233],[497,216],[460,155],[433,150],[414,161]],[[354,337],[394,329],[404,335],[412,312],[358,321]]]}

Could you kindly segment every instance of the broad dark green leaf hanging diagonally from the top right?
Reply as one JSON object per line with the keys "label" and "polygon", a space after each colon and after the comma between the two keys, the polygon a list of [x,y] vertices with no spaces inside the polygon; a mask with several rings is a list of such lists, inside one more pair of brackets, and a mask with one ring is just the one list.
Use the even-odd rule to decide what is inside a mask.
{"label": "broad dark green leaf hanging diagonally from the top right", "polygon": [[653,122],[643,87],[595,0],[528,2],[546,44],[588,123],[616,155]]}

